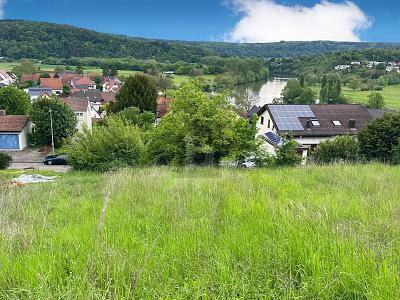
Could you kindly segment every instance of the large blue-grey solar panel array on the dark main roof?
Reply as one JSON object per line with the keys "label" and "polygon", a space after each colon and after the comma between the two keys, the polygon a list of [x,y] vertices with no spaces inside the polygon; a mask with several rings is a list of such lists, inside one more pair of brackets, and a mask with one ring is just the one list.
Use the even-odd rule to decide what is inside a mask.
{"label": "large blue-grey solar panel array on the dark main roof", "polygon": [[301,131],[304,127],[299,118],[315,118],[308,105],[270,105],[269,109],[278,130]]}

